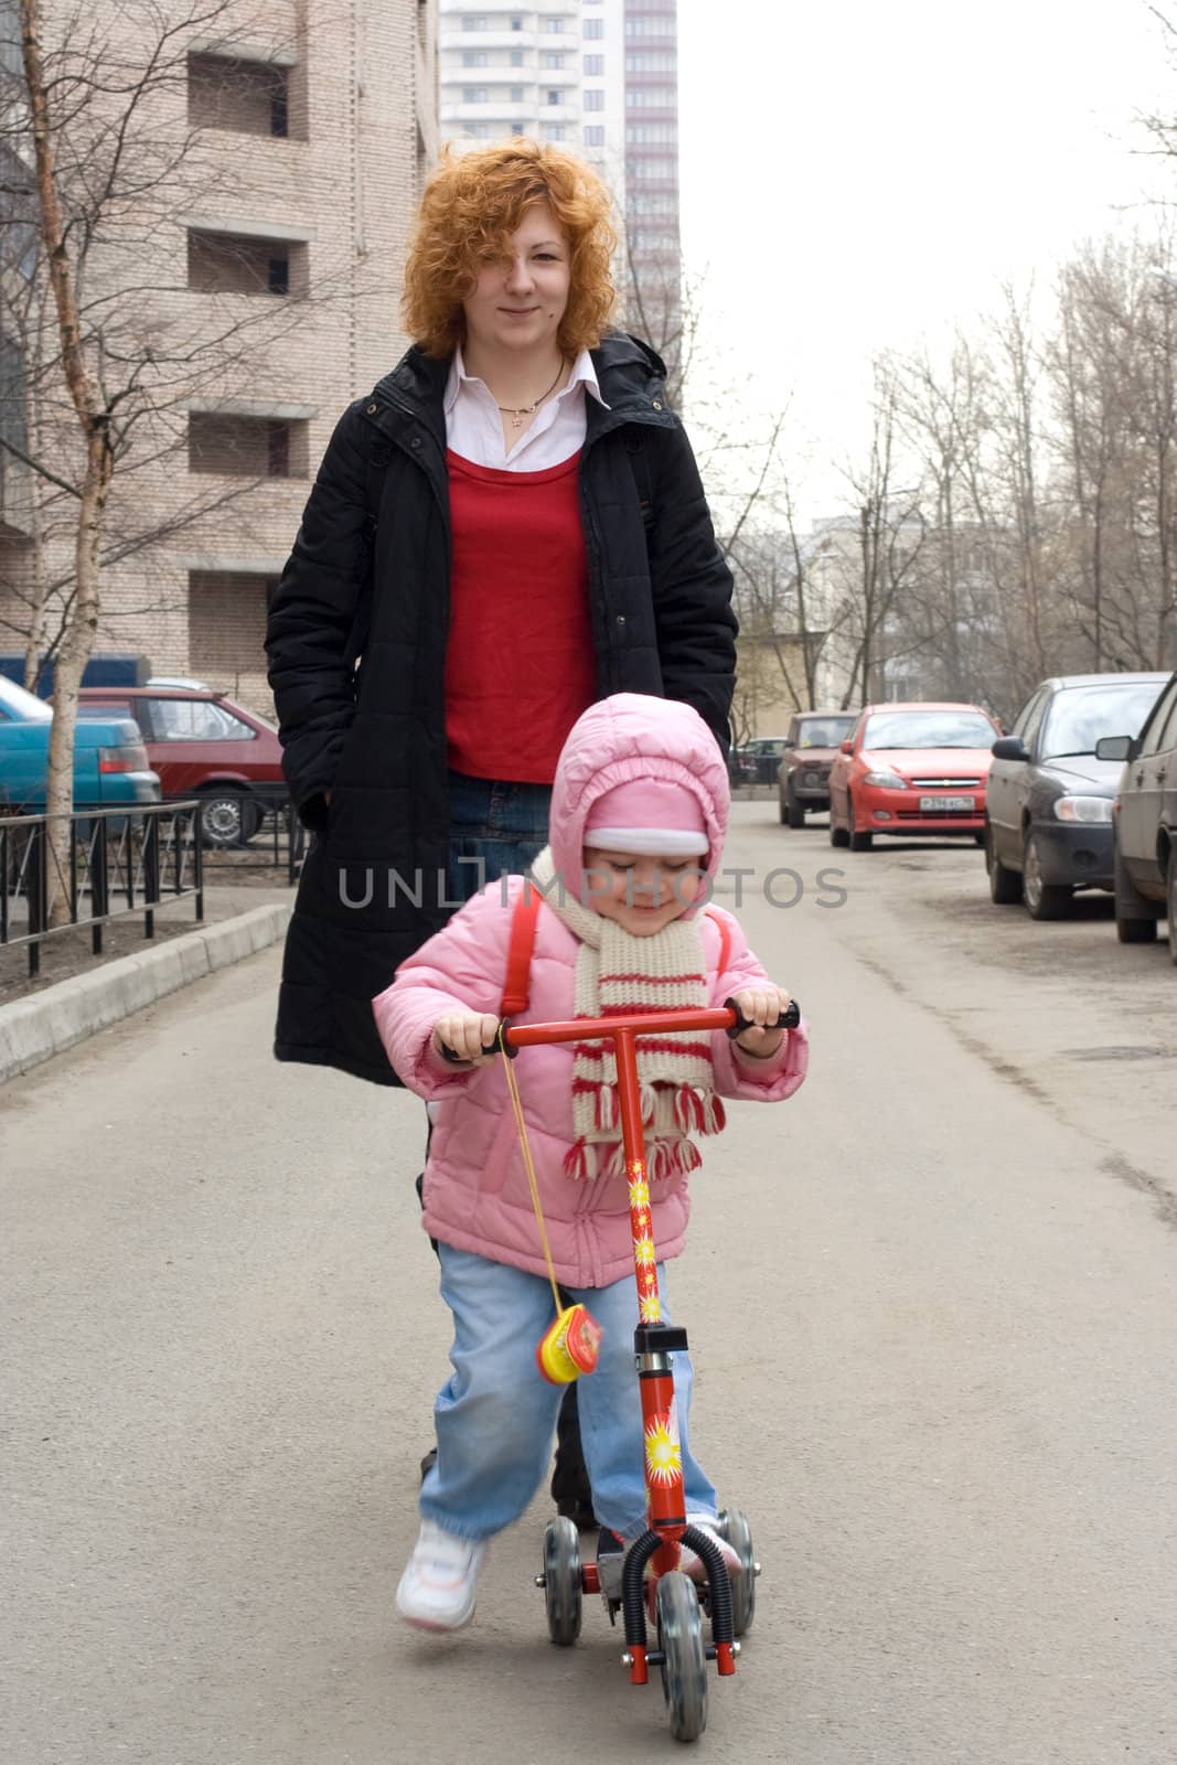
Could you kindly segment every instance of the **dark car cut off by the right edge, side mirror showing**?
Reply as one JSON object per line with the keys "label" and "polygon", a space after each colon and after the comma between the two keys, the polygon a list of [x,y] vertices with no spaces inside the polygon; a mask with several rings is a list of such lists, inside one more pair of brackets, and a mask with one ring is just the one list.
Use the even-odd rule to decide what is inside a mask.
{"label": "dark car cut off by the right edge, side mirror showing", "polygon": [[1126,761],[1112,803],[1112,877],[1121,944],[1156,937],[1168,920],[1168,948],[1177,962],[1177,674],[1152,706],[1143,729],[1105,736],[1103,761]]}

